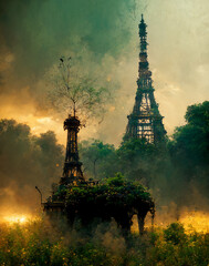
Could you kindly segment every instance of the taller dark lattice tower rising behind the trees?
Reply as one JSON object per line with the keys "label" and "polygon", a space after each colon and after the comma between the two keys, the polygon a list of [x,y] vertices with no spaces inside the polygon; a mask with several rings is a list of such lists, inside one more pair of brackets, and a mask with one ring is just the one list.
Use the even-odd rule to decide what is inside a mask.
{"label": "taller dark lattice tower rising behind the trees", "polygon": [[165,141],[166,131],[158,104],[155,101],[151,72],[147,61],[147,24],[143,14],[138,25],[140,38],[140,53],[138,65],[137,92],[135,105],[128,117],[125,139],[146,139],[149,143],[159,144]]}

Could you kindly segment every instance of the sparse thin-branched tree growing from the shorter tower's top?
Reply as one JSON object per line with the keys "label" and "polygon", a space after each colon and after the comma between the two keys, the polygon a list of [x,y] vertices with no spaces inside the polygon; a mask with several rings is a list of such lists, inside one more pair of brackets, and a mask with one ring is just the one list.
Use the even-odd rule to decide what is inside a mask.
{"label": "sparse thin-branched tree growing from the shorter tower's top", "polygon": [[62,57],[54,70],[49,93],[52,106],[83,119],[103,116],[109,99],[108,90],[96,85],[96,80],[90,79],[88,73],[81,73],[76,62],[72,65],[71,61],[71,58]]}

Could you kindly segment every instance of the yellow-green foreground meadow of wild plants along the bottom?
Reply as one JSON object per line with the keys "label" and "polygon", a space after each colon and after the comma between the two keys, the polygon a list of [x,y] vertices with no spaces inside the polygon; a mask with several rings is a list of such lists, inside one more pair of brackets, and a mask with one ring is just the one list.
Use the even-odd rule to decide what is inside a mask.
{"label": "yellow-green foreground meadow of wild plants along the bottom", "polygon": [[187,235],[179,224],[173,224],[166,229],[147,231],[143,237],[130,234],[126,242],[114,224],[98,226],[95,232],[93,235],[63,232],[46,221],[31,222],[21,226],[1,224],[0,265],[208,266],[209,264],[209,234],[191,232]]}

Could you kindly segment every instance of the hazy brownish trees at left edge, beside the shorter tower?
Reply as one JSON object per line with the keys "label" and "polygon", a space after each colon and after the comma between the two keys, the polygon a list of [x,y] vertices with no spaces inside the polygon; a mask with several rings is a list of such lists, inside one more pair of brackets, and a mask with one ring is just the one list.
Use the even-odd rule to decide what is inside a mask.
{"label": "hazy brownish trees at left edge, beside the shorter tower", "polygon": [[[31,192],[35,185],[50,186],[62,171],[63,158],[64,149],[53,132],[34,136],[25,124],[0,120],[1,201],[9,202],[9,194],[3,188],[13,184],[13,200],[17,196],[19,201],[22,198],[22,202],[28,203],[29,191],[25,186],[31,187]],[[34,201],[34,196],[31,198]]]}

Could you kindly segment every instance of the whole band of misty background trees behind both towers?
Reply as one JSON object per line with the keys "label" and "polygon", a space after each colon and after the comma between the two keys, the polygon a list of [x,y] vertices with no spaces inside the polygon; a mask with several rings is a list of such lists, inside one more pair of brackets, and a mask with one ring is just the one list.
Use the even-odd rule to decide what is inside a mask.
{"label": "whole band of misty background trees behind both towers", "polygon": [[[199,197],[207,200],[208,113],[207,101],[188,106],[186,124],[175,129],[164,149],[157,149],[145,140],[124,141],[117,149],[100,140],[80,142],[84,175],[104,181],[121,173],[125,180],[138,181],[149,188],[160,205],[169,205],[174,201],[178,207],[195,205],[207,208],[207,204],[198,206],[199,198],[195,193],[199,192]],[[1,186],[7,186],[15,173],[18,182],[13,190],[21,194],[20,204],[28,196],[24,186],[39,184],[50,187],[58,182],[63,167],[64,146],[58,144],[53,132],[34,136],[28,125],[13,120],[1,120],[0,129],[0,164],[7,176],[1,178]]]}

